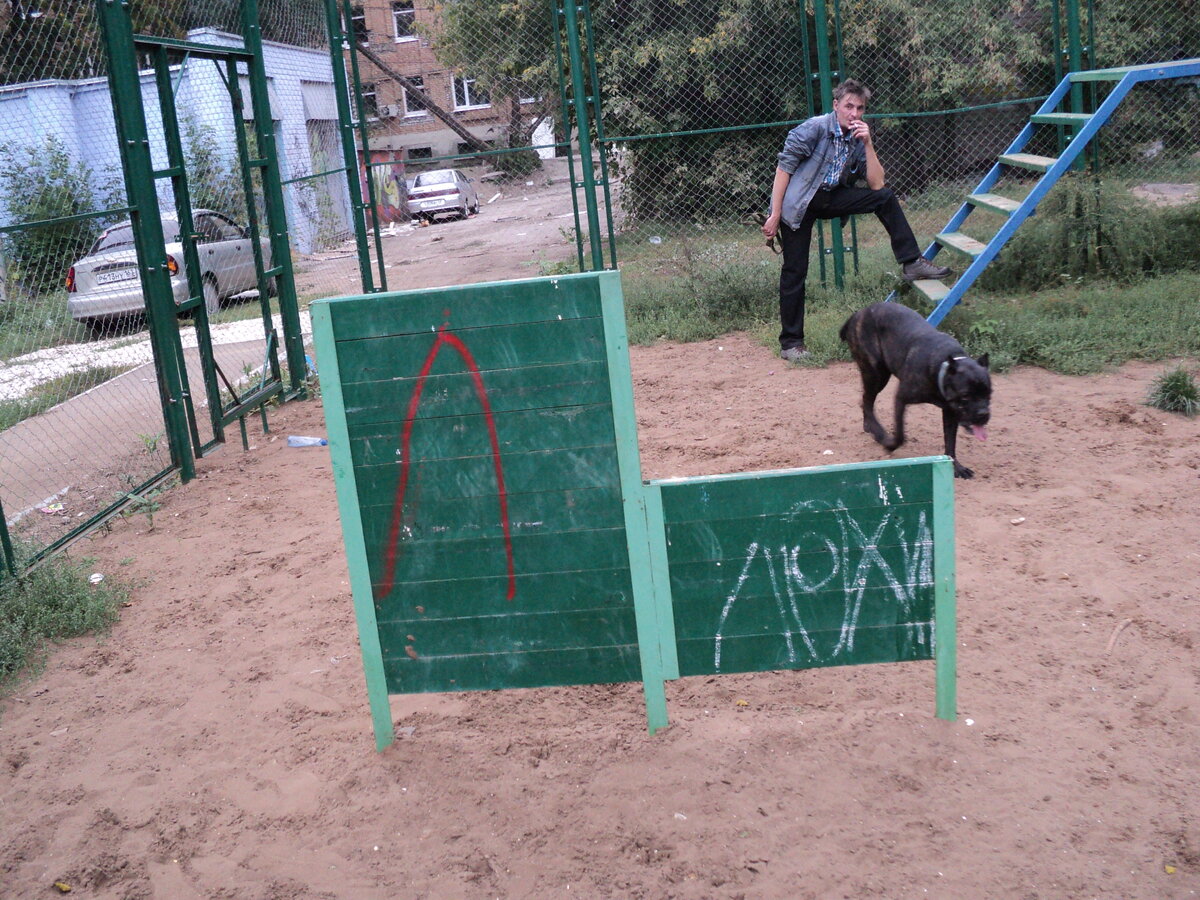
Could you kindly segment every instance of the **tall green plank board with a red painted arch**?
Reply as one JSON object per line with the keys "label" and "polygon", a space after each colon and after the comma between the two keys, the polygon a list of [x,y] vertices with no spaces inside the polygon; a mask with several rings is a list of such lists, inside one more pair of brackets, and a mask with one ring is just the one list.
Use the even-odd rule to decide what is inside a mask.
{"label": "tall green plank board with a red painted arch", "polygon": [[641,678],[640,467],[631,392],[613,390],[628,361],[611,371],[624,322],[606,314],[623,314],[616,274],[314,304],[376,692]]}

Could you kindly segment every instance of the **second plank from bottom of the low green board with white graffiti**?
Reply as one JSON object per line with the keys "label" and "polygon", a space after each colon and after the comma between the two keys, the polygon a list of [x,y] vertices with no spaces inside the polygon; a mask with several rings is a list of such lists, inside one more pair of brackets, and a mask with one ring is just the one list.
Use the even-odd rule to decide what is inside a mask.
{"label": "second plank from bottom of the low green board with white graffiti", "polygon": [[[763,578],[763,581],[767,581]],[[830,583],[805,593],[788,593],[782,580],[762,584],[761,592],[739,584],[725,596],[680,598],[686,616],[676,618],[679,640],[725,640],[770,634],[780,623],[811,634],[851,628],[886,628],[930,622],[934,618],[934,586],[896,584],[858,589],[853,583]]]}

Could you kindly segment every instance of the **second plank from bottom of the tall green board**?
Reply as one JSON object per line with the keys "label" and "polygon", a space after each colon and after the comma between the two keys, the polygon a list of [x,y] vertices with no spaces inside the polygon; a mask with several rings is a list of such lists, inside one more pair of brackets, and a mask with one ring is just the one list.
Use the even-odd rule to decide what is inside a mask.
{"label": "second plank from bottom of the tall green board", "polygon": [[523,612],[514,601],[504,616],[380,622],[384,656],[457,656],[529,650],[588,650],[637,642],[634,607]]}

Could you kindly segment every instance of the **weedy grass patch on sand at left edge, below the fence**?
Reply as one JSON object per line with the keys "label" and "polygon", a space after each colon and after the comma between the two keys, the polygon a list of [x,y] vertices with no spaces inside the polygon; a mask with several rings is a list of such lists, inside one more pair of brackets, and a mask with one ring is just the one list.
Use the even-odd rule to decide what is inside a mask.
{"label": "weedy grass patch on sand at left edge, below the fence", "polygon": [[0,690],[41,671],[54,642],[116,622],[127,589],[112,578],[91,584],[88,562],[59,556],[20,578],[0,577]]}

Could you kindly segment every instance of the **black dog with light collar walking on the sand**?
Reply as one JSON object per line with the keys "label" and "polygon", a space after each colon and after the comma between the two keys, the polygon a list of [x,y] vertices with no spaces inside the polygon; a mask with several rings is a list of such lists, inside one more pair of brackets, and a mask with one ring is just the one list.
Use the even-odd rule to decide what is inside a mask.
{"label": "black dog with light collar walking on the sand", "polygon": [[[986,439],[991,415],[991,377],[988,354],[971,359],[961,344],[900,304],[875,304],[859,310],[841,326],[841,340],[863,376],[863,431],[887,450],[904,444],[904,409],[911,403],[932,403],[942,409],[946,455],[954,458],[958,426]],[[895,376],[895,434],[888,437],[875,418],[875,398]],[[974,473],[954,460],[954,474]]]}

